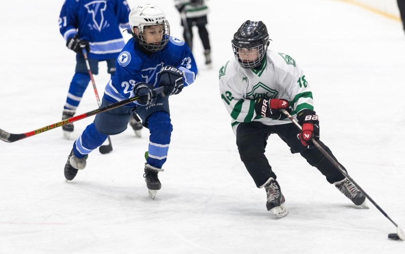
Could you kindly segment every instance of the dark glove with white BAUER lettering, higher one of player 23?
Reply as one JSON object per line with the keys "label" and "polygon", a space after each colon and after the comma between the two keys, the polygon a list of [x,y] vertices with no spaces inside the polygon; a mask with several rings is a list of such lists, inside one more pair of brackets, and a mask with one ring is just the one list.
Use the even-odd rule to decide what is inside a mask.
{"label": "dark glove with white BAUER lettering, higher one of player 23", "polygon": [[165,96],[179,94],[184,87],[183,71],[178,68],[167,65],[160,69],[160,83],[159,87],[163,86]]}

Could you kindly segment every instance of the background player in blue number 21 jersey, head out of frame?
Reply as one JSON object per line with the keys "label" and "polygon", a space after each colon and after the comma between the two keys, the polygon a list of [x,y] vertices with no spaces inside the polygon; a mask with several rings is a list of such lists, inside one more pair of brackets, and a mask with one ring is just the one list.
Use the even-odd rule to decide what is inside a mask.
{"label": "background player in blue number 21 jersey, head out of frame", "polygon": [[[62,120],[75,114],[90,82],[80,46],[86,47],[93,74],[98,74],[98,62],[106,61],[107,72],[114,76],[115,59],[125,45],[120,28],[130,28],[128,21],[130,11],[124,0],[66,0],[63,4],[59,16],[59,29],[66,40],[66,46],[76,52],[76,68],[70,82]],[[62,126],[62,129],[64,137],[69,138],[73,131],[73,123]]]}

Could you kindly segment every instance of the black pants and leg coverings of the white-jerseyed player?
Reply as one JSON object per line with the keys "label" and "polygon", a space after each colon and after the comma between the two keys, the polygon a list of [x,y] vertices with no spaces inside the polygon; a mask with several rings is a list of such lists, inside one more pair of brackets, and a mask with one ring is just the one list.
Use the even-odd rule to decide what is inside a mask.
{"label": "black pants and leg coverings of the white-jerseyed player", "polygon": [[[236,129],[236,145],[240,159],[245,164],[257,187],[266,183],[270,177],[276,179],[276,175],[271,170],[271,166],[264,155],[267,139],[273,133],[288,144],[291,153],[300,153],[311,166],[316,167],[325,175],[329,183],[332,184],[345,178],[339,169],[318,149],[308,149],[302,145],[297,138],[299,130],[293,123],[271,126],[259,122],[240,123]],[[321,141],[318,141],[318,143],[336,160],[325,144]],[[342,166],[342,168],[344,167]]]}

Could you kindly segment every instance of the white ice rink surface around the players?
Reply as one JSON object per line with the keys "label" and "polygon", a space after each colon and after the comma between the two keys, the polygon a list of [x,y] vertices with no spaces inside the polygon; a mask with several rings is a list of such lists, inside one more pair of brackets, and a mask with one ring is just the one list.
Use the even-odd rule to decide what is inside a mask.
{"label": "white ice rink surface around the players", "polygon": [[[130,7],[139,2],[128,1]],[[0,1],[0,128],[25,133],[59,121],[74,53],[58,17],[63,1]],[[167,12],[182,38],[174,1]],[[354,205],[277,136],[266,156],[286,196],[288,216],[267,212],[266,195],[239,159],[218,69],[233,58],[230,41],[247,19],[267,24],[274,50],[300,64],[313,90],[321,140],[349,175],[405,227],[405,34],[401,23],[344,1],[208,1],[213,68],[197,31],[196,82],[171,98],[174,131],[154,200],[143,178],[148,133],[112,136],[113,152],[90,154],[65,183],[74,139],[50,130],[0,142],[0,253],[405,253],[387,239],[395,226],[370,201]],[[129,39],[129,34],[125,35]],[[99,93],[105,63],[95,76]],[[97,108],[91,85],[78,113]]]}

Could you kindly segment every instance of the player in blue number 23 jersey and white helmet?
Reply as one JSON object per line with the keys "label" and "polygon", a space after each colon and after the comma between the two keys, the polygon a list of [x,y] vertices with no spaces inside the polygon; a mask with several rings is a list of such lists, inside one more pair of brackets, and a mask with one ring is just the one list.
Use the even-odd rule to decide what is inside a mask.
{"label": "player in blue number 23 jersey and white helmet", "polygon": [[[78,169],[84,169],[88,154],[99,147],[108,135],[123,132],[133,111],[149,129],[148,156],[144,177],[152,198],[161,184],[157,177],[166,162],[173,126],[169,97],[179,94],[195,80],[197,67],[184,41],[170,36],[165,13],[155,5],[138,5],[130,15],[133,38],[117,57],[115,76],[108,82],[102,105],[140,96],[127,105],[96,115],[73,144],[64,173],[72,180]],[[163,94],[153,90],[164,87]]]}

